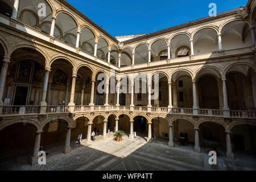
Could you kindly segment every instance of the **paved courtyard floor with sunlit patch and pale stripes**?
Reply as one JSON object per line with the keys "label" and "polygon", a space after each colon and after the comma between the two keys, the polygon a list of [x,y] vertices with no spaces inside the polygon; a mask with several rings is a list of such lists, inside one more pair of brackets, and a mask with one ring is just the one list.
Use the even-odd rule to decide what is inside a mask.
{"label": "paved courtyard floor with sunlit patch and pale stripes", "polygon": [[206,152],[197,154],[191,146],[170,148],[164,140],[147,143],[142,137],[130,140],[127,136],[116,142],[113,136],[97,140],[92,146],[76,146],[62,154],[63,147],[51,148],[46,165],[31,167],[28,154],[22,154],[1,161],[1,170],[256,170],[256,159],[250,156],[237,156],[228,160],[218,156],[217,165],[210,166]]}

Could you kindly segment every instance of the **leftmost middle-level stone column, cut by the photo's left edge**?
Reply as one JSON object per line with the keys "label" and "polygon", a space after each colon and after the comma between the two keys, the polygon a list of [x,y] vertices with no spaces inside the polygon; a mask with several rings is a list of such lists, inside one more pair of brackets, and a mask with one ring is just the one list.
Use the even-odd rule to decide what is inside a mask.
{"label": "leftmost middle-level stone column, cut by the photo's left edge", "polygon": [[10,63],[9,57],[4,57],[0,73],[0,106],[3,106],[3,91],[5,90],[6,75]]}

